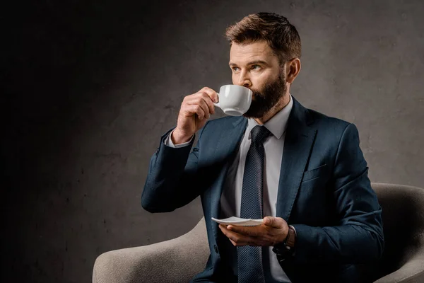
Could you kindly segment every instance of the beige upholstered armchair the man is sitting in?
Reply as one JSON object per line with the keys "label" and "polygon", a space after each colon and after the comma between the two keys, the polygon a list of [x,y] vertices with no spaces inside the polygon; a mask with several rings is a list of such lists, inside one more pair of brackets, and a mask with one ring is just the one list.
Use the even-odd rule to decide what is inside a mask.
{"label": "beige upholstered armchair the man is sitting in", "polygon": [[[383,209],[385,249],[372,277],[375,283],[424,282],[424,190],[372,183]],[[209,249],[204,218],[170,241],[103,253],[93,283],[189,282],[204,270]]]}

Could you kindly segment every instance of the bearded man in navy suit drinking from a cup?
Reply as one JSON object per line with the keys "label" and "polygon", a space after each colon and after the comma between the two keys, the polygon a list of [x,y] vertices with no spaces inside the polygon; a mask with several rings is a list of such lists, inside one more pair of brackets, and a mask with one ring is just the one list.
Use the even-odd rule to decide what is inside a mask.
{"label": "bearded man in navy suit drinking from a cup", "polygon": [[[216,91],[186,96],[151,158],[143,208],[171,212],[201,196],[211,255],[193,282],[363,280],[361,264],[382,255],[384,238],[358,130],[290,95],[300,37],[285,17],[252,14],[226,36],[232,83],[252,90],[252,105],[209,120]],[[230,216],[264,224],[211,220]]]}

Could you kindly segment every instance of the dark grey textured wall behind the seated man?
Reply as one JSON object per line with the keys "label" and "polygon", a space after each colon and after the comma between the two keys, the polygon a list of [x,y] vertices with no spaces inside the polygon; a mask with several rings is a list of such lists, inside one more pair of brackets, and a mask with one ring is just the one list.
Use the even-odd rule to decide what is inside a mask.
{"label": "dark grey textured wall behind the seated man", "polygon": [[15,4],[2,18],[1,281],[90,282],[100,253],[199,221],[199,200],[143,211],[148,161],[184,96],[231,83],[223,32],[249,13],[298,28],[291,93],[358,126],[373,182],[424,187],[423,3]]}

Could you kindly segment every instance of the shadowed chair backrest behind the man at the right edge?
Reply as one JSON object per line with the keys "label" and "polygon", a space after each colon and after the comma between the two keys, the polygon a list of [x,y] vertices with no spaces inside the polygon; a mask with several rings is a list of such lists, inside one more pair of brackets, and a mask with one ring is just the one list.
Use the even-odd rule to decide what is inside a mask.
{"label": "shadowed chair backrest behind the man at the right edge", "polygon": [[372,183],[382,206],[384,253],[375,274],[398,270],[424,243],[424,189]]}

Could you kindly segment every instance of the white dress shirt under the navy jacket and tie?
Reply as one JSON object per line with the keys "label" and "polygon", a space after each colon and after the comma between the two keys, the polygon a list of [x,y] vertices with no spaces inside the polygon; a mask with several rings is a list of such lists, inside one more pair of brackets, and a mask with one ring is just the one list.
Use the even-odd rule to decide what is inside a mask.
{"label": "white dress shirt under the navy jacket and tie", "polygon": [[[289,94],[290,96],[290,94]],[[269,129],[271,136],[264,141],[265,160],[264,160],[264,186],[263,186],[263,215],[276,216],[278,183],[280,180],[281,160],[283,158],[283,148],[285,139],[285,129],[290,112],[293,108],[293,98],[290,96],[290,102],[282,110],[276,113],[270,120],[266,121],[264,127]],[[249,118],[247,128],[240,144],[240,149],[228,168],[227,178],[224,182],[223,193],[220,198],[221,216],[227,218],[230,216],[240,217],[240,203],[242,200],[242,183],[245,172],[245,162],[247,151],[250,147],[250,131],[257,122]],[[172,143],[170,135],[165,139],[165,145],[171,147],[182,147],[190,144],[190,141],[184,144]],[[192,138],[193,139],[193,138]],[[269,263],[271,276],[277,282],[290,282],[287,275],[278,263],[276,254],[269,247]],[[266,267],[264,267],[266,268]]]}

